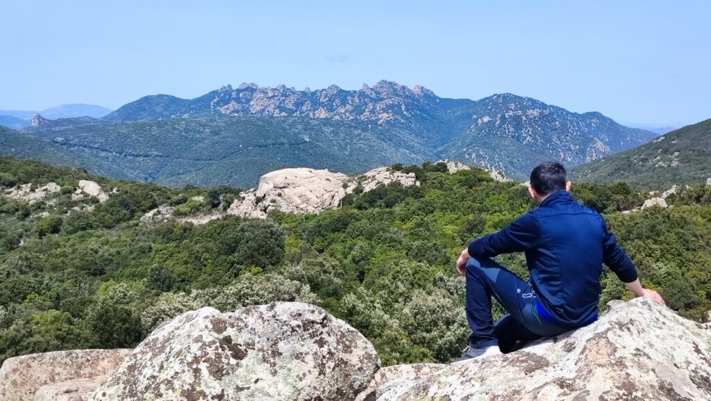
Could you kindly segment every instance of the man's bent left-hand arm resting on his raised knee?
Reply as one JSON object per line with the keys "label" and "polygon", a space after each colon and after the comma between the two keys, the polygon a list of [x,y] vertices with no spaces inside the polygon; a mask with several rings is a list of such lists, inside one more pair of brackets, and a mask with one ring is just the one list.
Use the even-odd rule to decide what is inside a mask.
{"label": "man's bent left-hand arm resting on his raised knee", "polygon": [[521,252],[536,246],[540,241],[540,229],[533,214],[526,213],[500,231],[486,234],[461,251],[456,260],[456,269],[464,275],[464,266],[469,256],[492,258],[500,254]]}

